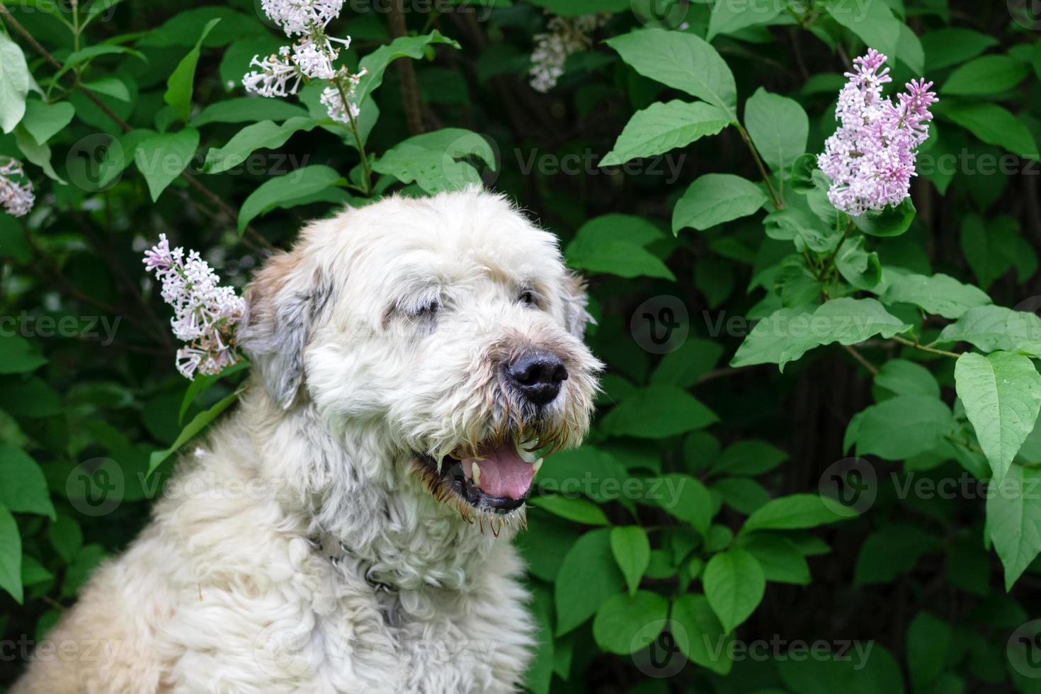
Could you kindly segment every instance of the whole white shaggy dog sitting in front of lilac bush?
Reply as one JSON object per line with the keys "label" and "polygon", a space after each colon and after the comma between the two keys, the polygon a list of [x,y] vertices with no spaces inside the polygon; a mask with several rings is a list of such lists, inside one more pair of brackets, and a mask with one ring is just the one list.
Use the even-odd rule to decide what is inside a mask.
{"label": "whole white shaggy dog sitting in front of lilac bush", "polygon": [[247,299],[237,411],[12,691],[515,691],[518,448],[577,443],[601,367],[555,237],[477,190],[392,198],[311,224]]}

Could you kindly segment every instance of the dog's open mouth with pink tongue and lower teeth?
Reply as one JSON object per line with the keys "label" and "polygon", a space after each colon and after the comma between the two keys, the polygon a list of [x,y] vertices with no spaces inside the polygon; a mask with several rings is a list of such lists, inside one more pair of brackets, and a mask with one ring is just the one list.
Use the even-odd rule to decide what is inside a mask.
{"label": "dog's open mouth with pink tongue and lower teeth", "polygon": [[479,511],[505,514],[524,505],[542,461],[513,439],[482,444],[477,454],[446,456],[438,466],[430,456],[418,459],[436,475],[435,486]]}

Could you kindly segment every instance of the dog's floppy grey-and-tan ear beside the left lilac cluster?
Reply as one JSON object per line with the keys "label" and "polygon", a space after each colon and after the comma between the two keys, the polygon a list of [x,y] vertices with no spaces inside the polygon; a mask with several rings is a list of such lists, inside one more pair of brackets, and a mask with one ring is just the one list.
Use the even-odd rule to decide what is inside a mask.
{"label": "dog's floppy grey-and-tan ear beside the left lilac cluster", "polygon": [[272,256],[246,288],[238,344],[259,369],[268,395],[289,409],[304,383],[304,346],[329,299],[321,273],[300,251]]}

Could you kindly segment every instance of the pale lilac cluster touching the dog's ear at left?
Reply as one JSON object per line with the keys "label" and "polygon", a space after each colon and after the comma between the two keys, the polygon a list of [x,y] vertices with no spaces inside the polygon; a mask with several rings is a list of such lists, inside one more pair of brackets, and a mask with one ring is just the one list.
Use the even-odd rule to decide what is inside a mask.
{"label": "pale lilac cluster touching the dog's ear at left", "polygon": [[187,344],[177,351],[177,370],[186,379],[219,374],[239,360],[235,350],[235,327],[246,302],[232,287],[220,286],[221,278],[197,251],[171,250],[166,234],[145,251],[145,268],[162,284],[162,299],[174,307],[170,325],[177,339]]}

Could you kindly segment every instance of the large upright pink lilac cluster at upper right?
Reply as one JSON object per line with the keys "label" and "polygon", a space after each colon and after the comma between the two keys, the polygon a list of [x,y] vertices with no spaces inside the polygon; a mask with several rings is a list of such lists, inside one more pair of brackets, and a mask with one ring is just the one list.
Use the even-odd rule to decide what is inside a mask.
{"label": "large upright pink lilac cluster at upper right", "polygon": [[929,107],[936,103],[932,82],[911,80],[897,103],[882,96],[891,82],[886,56],[874,49],[854,60],[839,93],[835,118],[841,126],[817,156],[832,180],[828,199],[853,216],[896,205],[908,197],[915,176],[915,153],[929,137]]}

